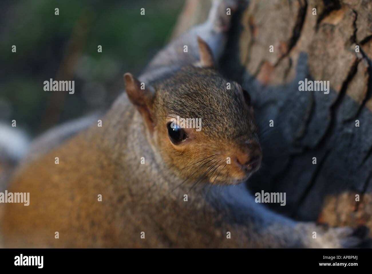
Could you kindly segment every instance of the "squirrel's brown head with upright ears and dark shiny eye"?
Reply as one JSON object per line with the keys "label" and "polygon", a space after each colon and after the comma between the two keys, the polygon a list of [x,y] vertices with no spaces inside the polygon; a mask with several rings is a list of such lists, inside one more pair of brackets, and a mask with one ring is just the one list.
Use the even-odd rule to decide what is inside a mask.
{"label": "squirrel's brown head with upright ears and dark shiny eye", "polygon": [[198,44],[198,63],[145,87],[126,73],[126,92],[164,174],[193,183],[240,183],[262,159],[250,96],[218,73],[206,42],[198,38]]}

